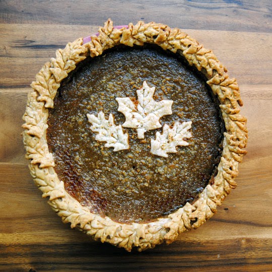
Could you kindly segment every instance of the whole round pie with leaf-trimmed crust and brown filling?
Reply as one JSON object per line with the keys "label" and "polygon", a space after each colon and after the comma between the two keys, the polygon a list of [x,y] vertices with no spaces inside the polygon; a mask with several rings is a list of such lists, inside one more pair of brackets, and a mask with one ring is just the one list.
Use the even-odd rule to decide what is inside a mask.
{"label": "whole round pie with leaf-trimmed crust and brown filling", "polygon": [[56,51],[31,84],[30,172],[72,228],[131,251],[211,218],[246,153],[239,87],[180,29],[138,22]]}

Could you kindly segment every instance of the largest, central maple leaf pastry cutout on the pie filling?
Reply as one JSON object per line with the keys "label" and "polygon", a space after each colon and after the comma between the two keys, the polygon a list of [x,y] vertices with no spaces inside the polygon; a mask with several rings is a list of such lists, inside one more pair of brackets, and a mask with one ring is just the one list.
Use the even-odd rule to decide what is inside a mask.
{"label": "largest, central maple leaf pastry cutout on the pie filling", "polygon": [[144,81],[143,87],[137,90],[138,100],[132,101],[129,97],[117,97],[118,111],[125,116],[123,127],[136,128],[138,139],[145,138],[147,130],[162,127],[160,118],[172,114],[172,100],[161,100],[157,102],[153,95],[155,87],[149,87]]}

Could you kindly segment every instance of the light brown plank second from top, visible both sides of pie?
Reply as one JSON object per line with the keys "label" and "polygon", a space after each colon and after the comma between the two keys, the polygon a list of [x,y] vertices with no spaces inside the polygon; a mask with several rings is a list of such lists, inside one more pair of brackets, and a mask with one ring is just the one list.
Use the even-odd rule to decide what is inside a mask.
{"label": "light brown plank second from top, visible both sides of pie", "polygon": [[[55,56],[56,49],[97,30],[94,26],[0,25],[0,88],[28,87],[42,65]],[[271,34],[184,31],[206,48],[213,49],[239,84],[272,84]]]}

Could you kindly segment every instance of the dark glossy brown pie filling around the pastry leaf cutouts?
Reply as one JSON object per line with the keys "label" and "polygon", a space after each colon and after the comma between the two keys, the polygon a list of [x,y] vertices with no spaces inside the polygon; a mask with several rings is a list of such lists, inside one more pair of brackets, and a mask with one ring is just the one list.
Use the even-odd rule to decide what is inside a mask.
{"label": "dark glossy brown pie filling around the pastry leaf cutouts", "polygon": [[[157,116],[160,125],[156,128],[149,129],[151,126],[141,121],[147,115],[151,120],[156,115],[141,113],[141,109],[146,110],[139,95],[144,82],[155,87],[154,105],[168,103],[168,112],[160,119]],[[127,116],[119,108],[119,98],[134,103],[130,116],[142,114],[133,120],[147,128],[143,137],[139,137],[138,123],[134,122],[134,127],[124,125]],[[103,137],[97,140],[104,132],[109,138],[113,136],[100,121],[100,130],[94,128],[98,116],[107,123],[110,115],[118,127],[116,131],[127,135],[121,150],[107,147]],[[182,138],[176,128],[186,122],[191,122],[191,127]],[[186,202],[192,203],[212,182],[221,157],[224,129],[217,99],[205,80],[181,57],[154,46],[119,46],[83,61],[62,82],[54,108],[49,110],[47,143],[59,179],[82,206],[117,222],[146,223],[173,213]],[[164,139],[164,130],[175,130],[184,145],[166,137],[160,142],[161,149],[169,146],[169,141],[176,145],[169,147],[167,154],[156,155],[151,152],[152,142],[161,135]]]}

